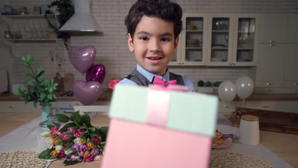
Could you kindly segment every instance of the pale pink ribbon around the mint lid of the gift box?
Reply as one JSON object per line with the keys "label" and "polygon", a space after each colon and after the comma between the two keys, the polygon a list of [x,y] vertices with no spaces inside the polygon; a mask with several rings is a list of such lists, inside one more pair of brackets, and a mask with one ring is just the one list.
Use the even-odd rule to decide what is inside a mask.
{"label": "pale pink ribbon around the mint lid of the gift box", "polygon": [[163,85],[149,85],[146,123],[166,127],[170,111],[170,91],[187,90],[186,86],[181,85],[169,85],[167,87]]}

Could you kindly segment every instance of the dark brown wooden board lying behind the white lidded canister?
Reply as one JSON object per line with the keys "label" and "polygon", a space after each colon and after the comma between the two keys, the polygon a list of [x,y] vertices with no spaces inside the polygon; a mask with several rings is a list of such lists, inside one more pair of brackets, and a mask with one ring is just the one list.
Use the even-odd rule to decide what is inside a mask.
{"label": "dark brown wooden board lying behind the white lidded canister", "polygon": [[239,127],[242,115],[258,116],[260,130],[298,135],[298,113],[237,107],[230,117],[233,126]]}

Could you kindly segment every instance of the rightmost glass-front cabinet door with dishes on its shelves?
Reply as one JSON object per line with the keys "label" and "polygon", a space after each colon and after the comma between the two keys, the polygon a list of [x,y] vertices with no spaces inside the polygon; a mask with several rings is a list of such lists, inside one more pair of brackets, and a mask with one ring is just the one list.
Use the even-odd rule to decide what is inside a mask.
{"label": "rightmost glass-front cabinet door with dishes on its shelves", "polygon": [[235,15],[233,65],[256,65],[258,18],[256,15]]}

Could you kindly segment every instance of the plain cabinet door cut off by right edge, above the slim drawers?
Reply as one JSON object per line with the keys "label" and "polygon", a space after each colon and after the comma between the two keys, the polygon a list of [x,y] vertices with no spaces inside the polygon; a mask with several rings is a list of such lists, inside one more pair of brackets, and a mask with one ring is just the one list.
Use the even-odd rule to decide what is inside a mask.
{"label": "plain cabinet door cut off by right edge, above the slim drawers", "polygon": [[298,81],[298,44],[286,47],[284,81]]}

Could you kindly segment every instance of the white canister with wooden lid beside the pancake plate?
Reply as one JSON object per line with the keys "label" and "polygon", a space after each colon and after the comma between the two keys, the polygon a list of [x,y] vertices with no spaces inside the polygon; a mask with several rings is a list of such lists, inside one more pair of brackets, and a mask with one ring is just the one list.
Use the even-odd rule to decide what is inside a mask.
{"label": "white canister with wooden lid beside the pancake plate", "polygon": [[254,115],[242,115],[239,128],[239,141],[247,145],[260,143],[259,118]]}

